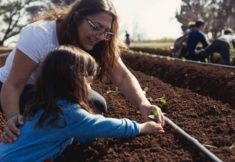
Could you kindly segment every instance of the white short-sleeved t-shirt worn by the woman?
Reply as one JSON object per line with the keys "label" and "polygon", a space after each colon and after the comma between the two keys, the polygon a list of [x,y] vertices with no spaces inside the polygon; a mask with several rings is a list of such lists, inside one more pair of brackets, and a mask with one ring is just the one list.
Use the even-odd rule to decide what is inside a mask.
{"label": "white short-sleeved t-shirt worn by the woman", "polygon": [[39,64],[27,81],[27,84],[34,84],[45,57],[58,46],[55,21],[41,20],[27,25],[22,29],[16,47],[7,57],[5,65],[0,68],[0,81],[3,83],[6,81],[12,67],[16,48],[18,48]]}

